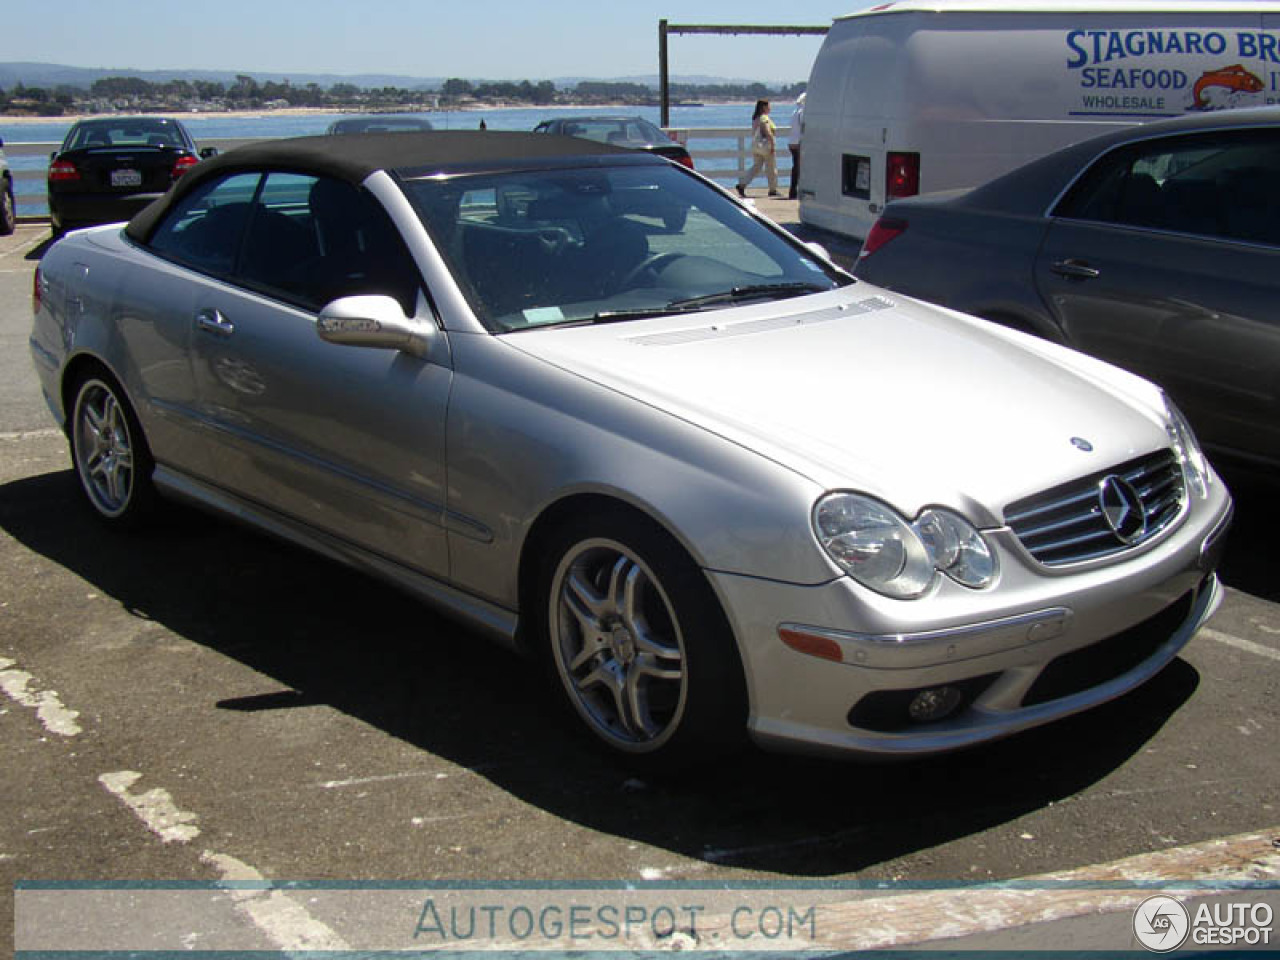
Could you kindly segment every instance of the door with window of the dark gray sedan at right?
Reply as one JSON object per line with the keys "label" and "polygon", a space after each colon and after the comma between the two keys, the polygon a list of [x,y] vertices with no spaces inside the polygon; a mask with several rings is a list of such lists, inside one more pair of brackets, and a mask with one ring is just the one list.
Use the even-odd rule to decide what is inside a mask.
{"label": "door with window of the dark gray sedan at right", "polygon": [[1102,157],[1034,275],[1073,346],[1160,383],[1207,444],[1280,461],[1280,131]]}

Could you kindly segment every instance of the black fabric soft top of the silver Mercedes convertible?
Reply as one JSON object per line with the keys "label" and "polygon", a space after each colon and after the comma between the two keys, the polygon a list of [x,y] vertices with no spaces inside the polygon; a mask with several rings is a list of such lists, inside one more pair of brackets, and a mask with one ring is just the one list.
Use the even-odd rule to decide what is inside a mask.
{"label": "black fabric soft top of the silver Mercedes convertible", "polygon": [[156,224],[182,197],[202,183],[239,170],[284,170],[332,177],[360,184],[378,170],[406,177],[435,173],[540,166],[557,160],[620,157],[626,163],[666,163],[640,151],[579,137],[489,131],[431,131],[424,133],[358,133],[291,137],[247,143],[205,160],[173,188],[129,220],[125,233],[145,242]]}

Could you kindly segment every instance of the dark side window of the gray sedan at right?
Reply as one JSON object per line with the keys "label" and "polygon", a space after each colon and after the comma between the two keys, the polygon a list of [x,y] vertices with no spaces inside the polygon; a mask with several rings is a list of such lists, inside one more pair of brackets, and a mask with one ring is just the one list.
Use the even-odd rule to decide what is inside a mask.
{"label": "dark side window of the gray sedan at right", "polygon": [[1169,137],[1112,151],[1057,216],[1280,244],[1280,131]]}

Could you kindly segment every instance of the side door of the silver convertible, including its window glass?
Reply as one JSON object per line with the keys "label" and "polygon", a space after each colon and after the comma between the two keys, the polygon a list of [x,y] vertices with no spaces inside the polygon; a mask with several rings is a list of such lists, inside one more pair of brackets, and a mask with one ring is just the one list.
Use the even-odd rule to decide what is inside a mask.
{"label": "side door of the silver convertible, including its window glass", "polygon": [[229,280],[202,285],[191,316],[215,483],[339,540],[447,575],[452,371],[316,334],[320,307],[348,294],[387,293],[434,323],[376,201],[338,180],[266,174]]}

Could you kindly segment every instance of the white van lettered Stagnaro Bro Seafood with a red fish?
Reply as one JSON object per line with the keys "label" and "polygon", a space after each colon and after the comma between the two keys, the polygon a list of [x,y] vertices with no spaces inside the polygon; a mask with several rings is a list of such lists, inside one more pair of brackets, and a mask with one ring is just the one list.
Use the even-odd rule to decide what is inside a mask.
{"label": "white van lettered Stagnaro Bro Seafood with a red fish", "polygon": [[800,219],[863,238],[1116,125],[1280,102],[1280,3],[897,0],[835,20],[805,104]]}

